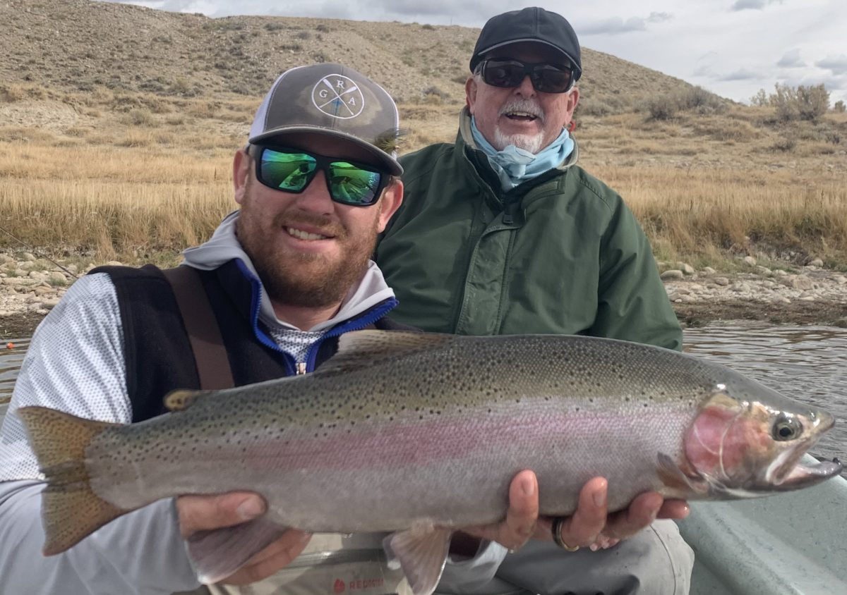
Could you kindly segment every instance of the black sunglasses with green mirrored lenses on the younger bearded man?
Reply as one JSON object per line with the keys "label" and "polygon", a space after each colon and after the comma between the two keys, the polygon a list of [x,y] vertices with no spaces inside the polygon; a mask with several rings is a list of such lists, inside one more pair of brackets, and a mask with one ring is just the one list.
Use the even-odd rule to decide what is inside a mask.
{"label": "black sunglasses with green mirrored lenses on the younger bearded man", "polygon": [[247,152],[256,160],[256,179],[262,185],[299,194],[320,170],[326,177],[329,198],[352,207],[369,207],[379,201],[379,195],[391,178],[390,174],[366,163],[324,157],[300,149],[250,145]]}

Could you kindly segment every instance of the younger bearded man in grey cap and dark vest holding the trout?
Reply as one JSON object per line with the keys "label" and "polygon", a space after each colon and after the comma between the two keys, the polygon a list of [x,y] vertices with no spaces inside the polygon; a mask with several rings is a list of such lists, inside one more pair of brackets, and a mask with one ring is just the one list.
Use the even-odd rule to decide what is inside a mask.
{"label": "younger bearded man in grey cap and dark vest holding the trout", "polygon": [[[352,69],[324,63],[291,69],[274,82],[248,145],[235,152],[240,210],[208,242],[185,251],[180,267],[196,273],[195,295],[208,300],[230,383],[311,372],[335,352],[341,333],[397,328],[385,317],[397,301],[369,261],[402,200],[397,130],[390,96]],[[105,267],[77,281],[36,330],[0,433],[0,591],[194,589],[199,582],[185,537],[263,514],[257,494],[183,496],[125,515],[64,554],[41,554],[42,475],[15,410],[43,405],[118,423],[162,414],[170,390],[204,382],[198,369],[205,369],[205,355],[192,350],[180,308],[157,268]],[[472,531],[518,547],[537,515],[533,474],[519,474],[510,494],[506,521]],[[316,555],[278,573],[311,538],[292,529],[224,583],[262,581],[250,592],[332,592],[335,581],[376,576],[362,595],[407,592],[401,573],[379,556],[381,537],[316,536],[309,544]],[[352,554],[316,565],[339,548]],[[472,557],[462,561],[462,576],[473,576],[476,566],[488,572],[485,559]]]}

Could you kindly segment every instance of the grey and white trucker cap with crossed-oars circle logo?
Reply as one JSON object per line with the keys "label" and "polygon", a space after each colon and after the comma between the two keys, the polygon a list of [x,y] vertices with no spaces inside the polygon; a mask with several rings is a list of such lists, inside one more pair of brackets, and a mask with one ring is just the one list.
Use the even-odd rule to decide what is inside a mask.
{"label": "grey and white trucker cap with crossed-oars circle logo", "polygon": [[351,140],[385,166],[403,173],[397,163],[400,118],[381,86],[356,70],[321,63],[286,70],[274,81],[253,118],[251,144],[285,135],[313,132]]}

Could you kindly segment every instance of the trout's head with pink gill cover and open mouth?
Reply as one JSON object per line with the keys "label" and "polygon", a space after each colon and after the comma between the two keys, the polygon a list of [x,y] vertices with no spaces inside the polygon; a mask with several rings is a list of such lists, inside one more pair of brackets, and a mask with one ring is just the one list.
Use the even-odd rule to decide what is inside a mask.
{"label": "trout's head with pink gill cover and open mouth", "polygon": [[838,475],[841,465],[802,463],[835,420],[828,412],[740,378],[717,383],[684,438],[694,473],[716,498],[756,498],[806,488]]}

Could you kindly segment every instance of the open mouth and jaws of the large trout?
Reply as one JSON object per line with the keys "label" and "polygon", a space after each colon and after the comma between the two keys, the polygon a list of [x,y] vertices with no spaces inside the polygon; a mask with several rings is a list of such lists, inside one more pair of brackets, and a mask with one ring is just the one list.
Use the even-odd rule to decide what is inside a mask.
{"label": "open mouth and jaws of the large trout", "polygon": [[767,466],[765,480],[770,489],[788,491],[805,488],[839,475],[843,470],[843,466],[838,459],[819,460],[817,463],[800,462],[803,455],[833,425],[835,425],[833,416],[828,414],[820,416],[817,420],[815,431],[809,438],[798,443],[793,449],[786,450]]}

